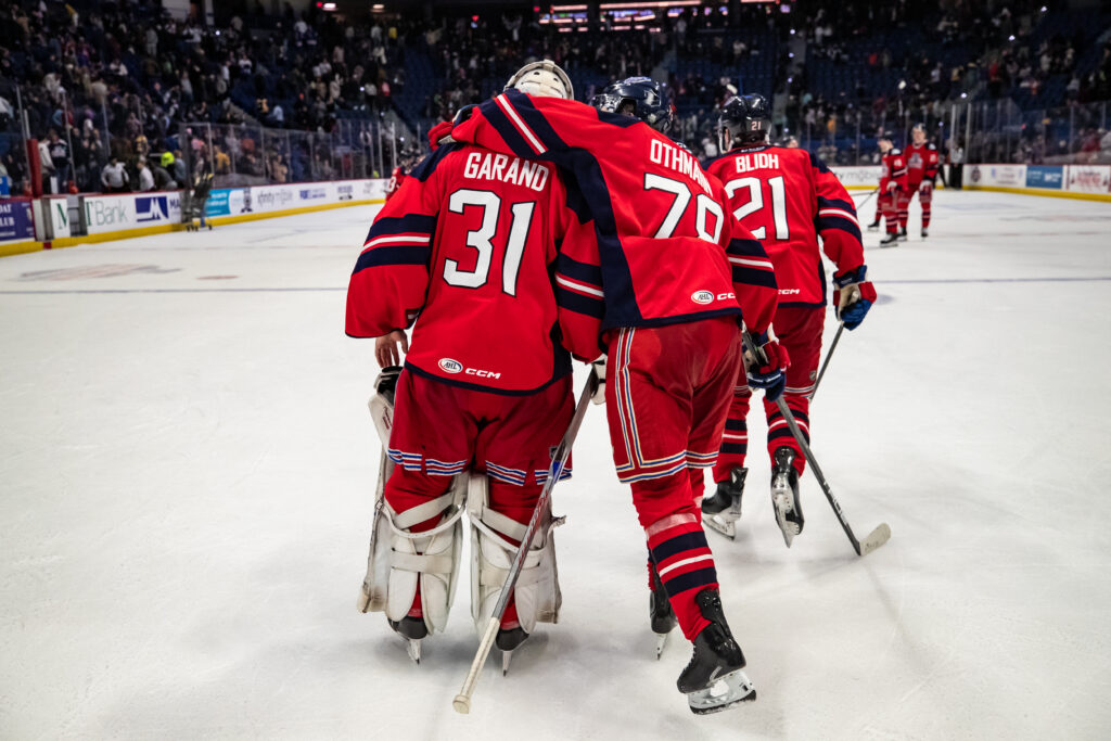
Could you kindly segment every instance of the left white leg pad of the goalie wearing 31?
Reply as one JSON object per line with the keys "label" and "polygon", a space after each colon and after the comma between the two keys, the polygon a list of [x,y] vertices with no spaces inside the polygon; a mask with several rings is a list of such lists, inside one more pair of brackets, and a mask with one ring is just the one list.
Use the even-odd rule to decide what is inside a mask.
{"label": "left white leg pad of the goalie wearing 31", "polygon": [[[392,464],[389,468],[392,470]],[[442,633],[459,575],[467,477],[454,477],[451,489],[442,497],[401,513],[386,502],[383,490],[384,485],[380,485],[374,504],[370,558],[359,610],[386,612],[390,620],[400,621],[412,607],[419,582],[424,624],[430,633]],[[414,524],[437,514],[442,518],[434,528],[410,532]]]}

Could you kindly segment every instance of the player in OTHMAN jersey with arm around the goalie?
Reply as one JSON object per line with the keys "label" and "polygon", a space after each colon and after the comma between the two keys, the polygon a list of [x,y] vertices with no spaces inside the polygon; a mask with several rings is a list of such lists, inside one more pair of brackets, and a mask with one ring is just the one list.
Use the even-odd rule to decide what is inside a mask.
{"label": "player in OTHMAN jersey with arm around the goalie", "polygon": [[[722,208],[721,183],[662,133],[671,107],[658,83],[614,83],[595,107],[508,91],[450,133],[567,168],[593,219],[597,243],[565,241],[556,280],[604,300],[607,415],[618,478],[632,487],[648,540],[653,629],[678,619],[694,643],[679,690],[693,712],[713,712],[755,694],[701,525],[702,469],[721,441],[742,312],[770,359],[752,382],[782,389],[787,358],[767,336],[774,272]],[[729,691],[713,695],[719,679]]]}

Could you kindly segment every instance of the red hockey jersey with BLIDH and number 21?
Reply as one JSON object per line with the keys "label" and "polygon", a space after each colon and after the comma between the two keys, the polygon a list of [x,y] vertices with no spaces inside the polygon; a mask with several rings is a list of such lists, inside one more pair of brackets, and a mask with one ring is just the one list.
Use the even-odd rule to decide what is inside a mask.
{"label": "red hockey jersey with BLIDH and number 21", "polygon": [[733,216],[763,242],[775,266],[779,306],[825,306],[825,270],[864,263],[857,208],[825,163],[804,149],[734,149],[710,163],[725,186]]}

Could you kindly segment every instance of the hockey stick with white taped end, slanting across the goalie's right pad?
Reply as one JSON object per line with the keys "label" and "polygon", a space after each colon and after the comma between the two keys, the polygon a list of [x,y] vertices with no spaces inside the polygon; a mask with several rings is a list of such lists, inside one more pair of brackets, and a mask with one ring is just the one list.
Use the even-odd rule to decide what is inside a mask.
{"label": "hockey stick with white taped end, slanting across the goalie's right pad", "polygon": [[506,608],[509,604],[509,595],[513,593],[513,585],[517,584],[517,578],[521,575],[524,559],[529,554],[529,547],[532,544],[532,539],[536,537],[537,530],[540,529],[540,518],[548,510],[552,489],[563,472],[563,465],[571,453],[571,445],[579,434],[582,418],[587,413],[590,397],[593,395],[597,388],[598,374],[591,370],[590,378],[587,379],[587,385],[583,387],[582,393],[579,395],[579,403],[575,404],[571,423],[568,425],[567,432],[563,433],[563,439],[560,441],[556,452],[552,453],[552,462],[548,467],[548,479],[544,481],[544,488],[540,491],[540,499],[537,500],[537,507],[532,510],[532,518],[529,520],[529,527],[524,531],[524,537],[521,538],[521,544],[517,547],[517,557],[513,559],[513,565],[506,577],[506,583],[501,588],[501,594],[498,597],[498,603],[494,604],[490,622],[487,623],[486,631],[482,633],[482,640],[479,641],[479,650],[474,654],[474,661],[471,662],[471,670],[467,673],[462,689],[459,690],[459,694],[456,695],[456,699],[451,703],[458,713],[466,714],[471,711],[471,695],[474,693],[474,684],[479,680],[479,672],[482,671],[482,664],[486,663],[487,657],[490,655],[493,640],[498,635],[498,629],[501,627],[501,617],[506,613]]}

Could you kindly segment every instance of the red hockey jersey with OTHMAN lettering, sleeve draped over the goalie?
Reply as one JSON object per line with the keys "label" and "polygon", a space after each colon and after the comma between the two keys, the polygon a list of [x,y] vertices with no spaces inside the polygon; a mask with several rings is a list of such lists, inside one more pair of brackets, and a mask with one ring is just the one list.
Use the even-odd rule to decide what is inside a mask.
{"label": "red hockey jersey with OTHMAN lettering, sleeve draped over the goalie", "polygon": [[[593,219],[597,244],[564,243],[573,261],[561,263],[557,280],[604,288],[603,327],[658,327],[742,310],[753,331],[771,322],[775,276],[760,242],[729,217],[717,178],[647,123],[509,90],[451,136],[569,171],[568,190],[577,193],[572,201],[581,199],[573,203],[580,214]],[[565,264],[574,274],[562,272]]]}

